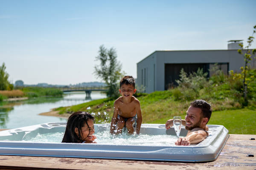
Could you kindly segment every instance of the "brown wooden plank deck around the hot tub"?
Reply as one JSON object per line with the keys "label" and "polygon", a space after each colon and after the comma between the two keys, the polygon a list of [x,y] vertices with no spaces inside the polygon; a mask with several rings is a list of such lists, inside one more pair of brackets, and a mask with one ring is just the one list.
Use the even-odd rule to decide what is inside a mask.
{"label": "brown wooden plank deck around the hot tub", "polygon": [[[215,161],[202,163],[168,161],[131,161],[114,159],[57,158],[35,156],[0,156],[1,170],[256,170],[256,135],[230,134]],[[248,155],[254,155],[249,157]]]}

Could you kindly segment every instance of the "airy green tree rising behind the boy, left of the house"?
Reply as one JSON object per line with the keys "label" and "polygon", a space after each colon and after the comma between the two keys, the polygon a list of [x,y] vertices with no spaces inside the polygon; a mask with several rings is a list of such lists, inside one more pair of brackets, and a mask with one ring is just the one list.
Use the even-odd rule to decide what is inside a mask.
{"label": "airy green tree rising behind the boy, left of the house", "polygon": [[122,64],[117,61],[116,50],[113,47],[108,50],[104,45],[101,45],[96,60],[100,61],[100,65],[94,67],[94,74],[108,86],[108,96],[115,97],[118,93],[117,82],[122,77]]}

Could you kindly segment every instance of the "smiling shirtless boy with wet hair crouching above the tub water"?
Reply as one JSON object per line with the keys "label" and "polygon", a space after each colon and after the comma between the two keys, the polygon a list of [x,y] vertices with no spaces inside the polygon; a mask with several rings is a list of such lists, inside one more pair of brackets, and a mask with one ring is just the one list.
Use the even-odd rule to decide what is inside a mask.
{"label": "smiling shirtless boy with wet hair crouching above the tub water", "polygon": [[128,133],[134,133],[134,123],[137,121],[136,133],[140,133],[142,115],[140,101],[133,96],[136,92],[132,76],[122,77],[119,92],[122,95],[114,102],[114,113],[111,120],[110,133],[122,133],[126,127]]}

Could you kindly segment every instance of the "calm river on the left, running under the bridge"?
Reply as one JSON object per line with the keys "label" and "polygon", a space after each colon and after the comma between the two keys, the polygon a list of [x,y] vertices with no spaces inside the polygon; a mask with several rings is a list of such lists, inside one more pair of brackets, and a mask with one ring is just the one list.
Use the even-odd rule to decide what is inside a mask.
{"label": "calm river on the left, running under the bridge", "polygon": [[106,94],[92,92],[91,99],[86,99],[84,92],[76,92],[66,93],[61,98],[35,98],[26,101],[2,103],[0,105],[0,129],[13,129],[48,122],[67,122],[65,118],[39,114],[48,112],[52,108],[78,105],[105,97]]}

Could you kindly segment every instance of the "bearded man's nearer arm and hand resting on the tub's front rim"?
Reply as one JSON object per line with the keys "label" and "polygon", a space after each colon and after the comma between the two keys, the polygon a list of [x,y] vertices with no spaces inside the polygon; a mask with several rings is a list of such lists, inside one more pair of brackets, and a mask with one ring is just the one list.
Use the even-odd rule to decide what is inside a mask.
{"label": "bearded man's nearer arm and hand resting on the tub's front rim", "polygon": [[207,137],[207,132],[204,130],[196,130],[187,134],[184,138],[179,138],[176,145],[188,146],[189,144],[198,144]]}

